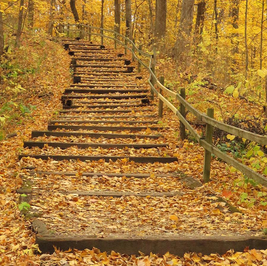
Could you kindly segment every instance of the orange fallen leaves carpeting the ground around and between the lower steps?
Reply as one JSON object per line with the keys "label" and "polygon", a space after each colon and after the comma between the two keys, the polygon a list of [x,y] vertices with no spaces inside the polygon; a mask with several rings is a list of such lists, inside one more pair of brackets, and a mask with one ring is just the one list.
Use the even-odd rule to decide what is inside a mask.
{"label": "orange fallen leaves carpeting the ground around and between the lower steps", "polygon": [[[43,220],[51,224],[51,228],[65,234],[67,232],[78,233],[81,230],[85,234],[96,233],[104,237],[110,233],[123,235],[144,235],[153,233],[158,235],[171,234],[201,234],[214,235],[218,232],[223,235],[256,235],[263,236],[267,227],[266,187],[255,184],[245,184],[239,172],[232,172],[225,163],[212,159],[211,182],[202,185],[202,171],[204,149],[192,139],[179,140],[179,122],[177,117],[164,109],[164,116],[160,125],[164,128],[164,138],[154,141],[155,143],[168,143],[169,149],[160,149],[160,156],[177,157],[178,161],[172,163],[130,163],[128,161],[95,163],[75,162],[59,163],[53,159],[45,163],[41,159],[23,158],[18,160],[18,154],[61,154],[60,149],[45,147],[45,149],[23,149],[23,141],[28,140],[32,130],[44,130],[48,121],[58,117],[57,110],[61,109],[61,95],[65,88],[71,84],[69,71],[70,57],[53,42],[42,40],[44,44],[36,44],[31,41],[25,45],[25,53],[28,55],[42,54],[47,52],[46,58],[40,63],[37,73],[33,73],[28,80],[21,83],[27,91],[20,91],[14,97],[10,95],[7,101],[23,101],[23,106],[36,106],[32,108],[23,121],[16,123],[10,120],[9,132],[17,132],[18,135],[5,138],[1,141],[0,153],[0,265],[267,265],[266,250],[249,250],[244,252],[228,251],[223,256],[211,254],[209,256],[195,253],[184,254],[183,257],[165,254],[163,257],[150,254],[139,257],[120,255],[116,252],[111,254],[101,253],[97,247],[92,251],[59,251],[50,255],[35,255],[38,250],[35,245],[35,234],[31,230],[32,219],[25,219],[18,209],[19,194],[16,190],[22,185],[22,178],[30,180],[38,189],[38,200],[31,202],[31,207],[43,212]],[[22,59],[21,59],[22,60]],[[21,63],[22,61],[18,62]],[[143,71],[143,77],[147,74]],[[148,87],[145,78],[141,81],[144,87]],[[1,86],[6,86],[6,83]],[[47,93],[43,95],[43,93]],[[52,94],[53,93],[53,94]],[[41,97],[38,97],[41,96]],[[202,96],[201,96],[202,97]],[[240,114],[249,113],[251,105],[231,96],[222,96],[230,105],[241,105]],[[155,102],[157,104],[157,101]],[[206,106],[205,106],[206,108]],[[204,110],[203,110],[204,111]],[[10,112],[10,111],[9,111]],[[156,107],[155,107],[156,112]],[[225,112],[223,110],[223,112]],[[260,108],[255,113],[261,113]],[[133,111],[133,114],[143,114],[142,110]],[[189,117],[189,121],[190,121]],[[17,118],[14,118],[15,120]],[[193,119],[191,119],[193,122]],[[196,126],[201,132],[202,128]],[[10,131],[11,130],[11,131]],[[80,130],[82,132],[82,130]],[[121,133],[121,132],[120,132]],[[127,132],[125,132],[127,133]],[[152,134],[151,130],[140,133]],[[49,141],[56,138],[48,137]],[[44,140],[38,137],[34,140]],[[92,142],[88,138],[65,138],[63,141]],[[101,141],[101,139],[99,140]],[[107,141],[107,140],[106,140]],[[138,143],[145,142],[140,140]],[[153,140],[150,140],[150,143]],[[108,142],[108,141],[107,141]],[[88,154],[107,154],[106,150],[88,149]],[[153,156],[153,149],[140,150],[140,156]],[[66,149],[64,154],[80,155],[75,147]],[[86,153],[82,152],[83,155]],[[109,150],[112,155],[131,156],[132,149],[120,151]],[[136,153],[135,153],[136,154]],[[157,152],[157,154],[159,154]],[[77,177],[44,175],[31,176],[24,166],[34,166],[36,171],[68,171],[77,172]],[[144,179],[108,176],[93,176],[83,179],[82,172],[98,172],[105,169],[112,173],[148,173]],[[185,175],[192,176],[201,183],[200,187],[189,188],[186,182],[173,176],[158,178],[157,174],[167,174],[182,171]],[[116,190],[120,192],[180,192],[174,197],[145,197],[139,202],[138,197],[121,197],[119,199],[102,198],[97,196],[77,197],[75,193],[64,195],[62,191],[70,190]],[[228,205],[216,200],[223,198],[232,206],[240,210],[232,213]],[[67,203],[67,204],[66,204]],[[249,203],[253,203],[252,205]],[[90,217],[86,214],[90,205]],[[71,213],[71,210],[75,210]],[[104,219],[112,212],[112,217]],[[77,215],[78,214],[78,215]],[[127,219],[125,219],[125,215]],[[130,217],[130,218],[129,218]],[[86,221],[85,221],[85,220]],[[83,223],[81,221],[84,220]],[[90,220],[90,226],[88,223]],[[118,220],[120,225],[118,226]],[[129,220],[131,223],[129,223]],[[62,226],[62,224],[64,226]],[[75,225],[75,226],[74,226]],[[133,226],[134,225],[134,226]],[[37,252],[38,253],[38,252]],[[48,261],[47,261],[48,260]]]}

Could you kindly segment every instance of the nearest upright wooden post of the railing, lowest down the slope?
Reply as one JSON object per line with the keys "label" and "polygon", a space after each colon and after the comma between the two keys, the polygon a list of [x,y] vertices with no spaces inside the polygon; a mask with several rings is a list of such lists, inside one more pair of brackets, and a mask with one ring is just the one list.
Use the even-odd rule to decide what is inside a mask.
{"label": "nearest upright wooden post of the railing, lowest down the slope", "polygon": [[[214,118],[214,109],[209,108],[207,110],[207,116]],[[212,144],[212,135],[213,135],[213,126],[206,124],[206,136],[205,141],[209,144]],[[204,166],[203,166],[203,182],[209,182],[210,177],[210,161],[211,161],[211,152],[205,149],[204,154]]]}

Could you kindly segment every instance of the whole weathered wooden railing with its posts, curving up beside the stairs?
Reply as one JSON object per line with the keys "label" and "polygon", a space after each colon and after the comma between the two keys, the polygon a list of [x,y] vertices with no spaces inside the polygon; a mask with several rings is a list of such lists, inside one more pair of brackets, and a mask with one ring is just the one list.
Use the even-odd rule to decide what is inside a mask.
{"label": "whole weathered wooden railing with its posts, curving up beside the stairs", "polygon": [[[181,125],[184,125],[180,127],[180,129],[182,130],[180,132],[181,137],[184,138],[185,136],[184,130],[186,128],[190,132],[190,134],[198,141],[200,146],[202,146],[205,149],[204,171],[203,171],[204,182],[209,181],[211,154],[214,154],[215,156],[222,159],[225,163],[228,163],[229,165],[232,165],[237,170],[241,171],[244,175],[248,176],[249,178],[254,179],[256,182],[263,184],[264,186],[267,186],[267,178],[265,176],[252,170],[247,165],[240,163],[239,161],[235,160],[233,157],[229,156],[228,154],[225,154],[224,152],[217,149],[214,145],[212,145],[212,132],[213,132],[213,127],[219,128],[220,130],[223,130],[229,134],[233,134],[235,136],[239,136],[241,138],[245,138],[250,141],[255,141],[256,143],[262,144],[262,145],[267,145],[267,136],[260,136],[258,134],[255,134],[255,133],[225,124],[218,120],[215,120],[213,118],[213,111],[211,109],[208,109],[207,114],[204,114],[198,111],[196,108],[194,108],[190,103],[188,103],[185,100],[185,93],[183,91],[181,91],[181,95],[180,95],[179,93],[176,93],[166,88],[164,86],[164,79],[161,78],[159,81],[155,75],[155,65],[156,65],[156,46],[155,45],[153,47],[153,54],[149,54],[147,52],[142,51],[142,46],[139,46],[139,48],[137,48],[135,42],[123,36],[122,34],[119,34],[116,31],[113,31],[110,29],[93,27],[93,26],[88,26],[85,24],[62,24],[61,26],[62,26],[63,31],[67,33],[67,36],[69,36],[70,31],[79,31],[81,38],[86,35],[88,35],[89,39],[91,38],[91,35],[100,36],[101,45],[103,45],[103,38],[113,40],[115,48],[117,48],[117,44],[120,44],[121,46],[125,48],[125,54],[127,53],[127,50],[129,50],[132,53],[133,60],[137,60],[138,62],[139,72],[140,72],[141,66],[143,66],[145,69],[147,69],[147,71],[149,71],[150,77],[149,77],[148,83],[151,87],[150,97],[151,99],[153,99],[154,95],[156,95],[159,98],[159,106],[158,106],[159,117],[162,117],[163,103],[164,103],[179,118]],[[92,30],[99,31],[100,33],[92,32]],[[104,32],[108,34],[112,34],[112,36],[104,34]],[[131,47],[129,47],[128,45],[131,45]],[[142,56],[145,58],[148,58],[149,60],[148,65],[142,61]],[[158,87],[158,90],[155,88],[156,86]],[[180,102],[180,112],[172,103],[170,103],[164,97],[164,94],[167,96],[171,96]],[[206,123],[205,139],[201,138],[201,136],[186,120],[185,109],[187,109],[194,116],[196,116],[198,120]]]}

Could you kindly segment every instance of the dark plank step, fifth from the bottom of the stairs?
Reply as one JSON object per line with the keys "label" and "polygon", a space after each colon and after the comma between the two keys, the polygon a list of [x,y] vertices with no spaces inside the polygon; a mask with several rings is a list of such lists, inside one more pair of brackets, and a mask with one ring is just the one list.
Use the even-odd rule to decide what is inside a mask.
{"label": "dark plank step, fifth from the bottom of the stairs", "polygon": [[166,143],[163,144],[128,144],[128,143],[82,143],[82,142],[42,142],[42,141],[24,141],[23,147],[32,148],[32,147],[39,147],[43,148],[44,145],[47,144],[50,147],[59,147],[61,149],[67,149],[72,146],[77,146],[80,149],[87,149],[89,147],[93,148],[103,148],[103,149],[110,149],[110,148],[119,148],[123,149],[125,147],[134,148],[134,149],[151,149],[151,148],[158,148],[158,147],[167,147]]}

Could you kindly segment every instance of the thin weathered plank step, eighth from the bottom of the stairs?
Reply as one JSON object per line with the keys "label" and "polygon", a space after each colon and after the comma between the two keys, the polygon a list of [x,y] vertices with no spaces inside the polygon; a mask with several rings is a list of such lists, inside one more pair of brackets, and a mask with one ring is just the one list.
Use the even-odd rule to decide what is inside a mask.
{"label": "thin weathered plank step, eighth from the bottom of the stairs", "polygon": [[158,121],[127,121],[127,120],[51,120],[50,124],[157,124]]}

